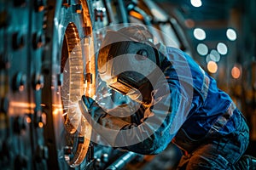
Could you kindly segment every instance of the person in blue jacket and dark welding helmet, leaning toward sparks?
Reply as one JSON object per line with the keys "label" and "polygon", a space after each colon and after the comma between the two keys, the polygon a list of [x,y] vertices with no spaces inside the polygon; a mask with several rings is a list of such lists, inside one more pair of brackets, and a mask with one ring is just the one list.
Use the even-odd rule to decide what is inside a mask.
{"label": "person in blue jacket and dark welding helmet, leaning toward sparks", "polygon": [[[188,54],[154,43],[146,27],[108,31],[97,66],[108,87],[134,101],[106,111],[82,96],[83,115],[113,147],[148,155],[172,142],[183,150],[178,169],[256,168],[244,155],[246,118],[230,96]],[[130,121],[118,116],[127,110]]]}

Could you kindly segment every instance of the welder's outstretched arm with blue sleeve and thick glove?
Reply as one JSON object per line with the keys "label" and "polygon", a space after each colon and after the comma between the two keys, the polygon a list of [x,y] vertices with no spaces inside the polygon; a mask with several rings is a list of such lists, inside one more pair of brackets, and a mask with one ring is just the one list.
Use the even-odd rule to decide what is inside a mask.
{"label": "welder's outstretched arm with blue sleeve and thick glove", "polygon": [[[164,150],[181,126],[173,122],[177,118],[181,95],[178,86],[173,83],[160,84],[154,90],[153,102],[146,110],[142,108],[140,123],[125,122],[118,116],[103,111],[93,99],[82,97],[83,105],[90,114],[84,114],[102,138],[113,147],[120,147],[140,154],[157,154]],[[183,119],[183,118],[181,118]]]}

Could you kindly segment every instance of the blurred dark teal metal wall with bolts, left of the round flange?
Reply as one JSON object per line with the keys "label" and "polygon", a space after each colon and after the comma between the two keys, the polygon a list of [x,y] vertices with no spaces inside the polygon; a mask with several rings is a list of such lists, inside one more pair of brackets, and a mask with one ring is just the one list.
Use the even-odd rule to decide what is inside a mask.
{"label": "blurred dark teal metal wall with bolts, left of the round flange", "polygon": [[[39,1],[0,2],[0,152],[3,153],[0,166],[3,169],[46,167],[46,161],[34,159],[47,158],[45,151],[37,149],[37,145],[45,144],[44,127],[34,123],[36,113],[41,110],[41,93],[34,88],[33,75],[40,72],[42,63],[43,50],[35,50],[36,46],[42,47],[41,37],[44,37],[42,5]],[[37,36],[33,36],[35,32]]]}

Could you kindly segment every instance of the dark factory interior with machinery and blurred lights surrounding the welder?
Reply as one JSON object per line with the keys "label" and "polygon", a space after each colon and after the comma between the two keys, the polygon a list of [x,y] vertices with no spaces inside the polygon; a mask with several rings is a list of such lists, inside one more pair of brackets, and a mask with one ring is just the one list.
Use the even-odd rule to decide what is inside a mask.
{"label": "dark factory interior with machinery and blurred lights surrounding the welder", "polygon": [[97,59],[108,29],[136,25],[191,56],[230,95],[249,128],[244,154],[256,157],[255,8],[254,0],[0,0],[0,169],[177,168],[187,152],[176,144],[125,150],[92,135],[81,113],[83,95],[106,111],[129,100],[101,80]]}

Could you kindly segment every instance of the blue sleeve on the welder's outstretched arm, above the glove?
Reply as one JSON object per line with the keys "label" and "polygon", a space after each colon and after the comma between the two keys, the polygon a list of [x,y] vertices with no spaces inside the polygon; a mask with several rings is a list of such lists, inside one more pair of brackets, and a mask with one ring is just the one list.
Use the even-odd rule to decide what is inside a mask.
{"label": "blue sleeve on the welder's outstretched arm, above the glove", "polygon": [[[179,93],[176,84],[169,83],[168,90],[156,90],[154,94],[153,105],[149,106],[144,111],[144,117],[140,124],[129,124],[122,128],[122,130],[133,129],[130,133],[124,133],[117,137],[116,142],[120,142],[125,150],[130,150],[143,155],[158,154],[166,149],[182,122],[175,120],[179,119],[177,116],[178,107],[182,96]],[[137,141],[136,144],[131,144],[131,141]]]}

